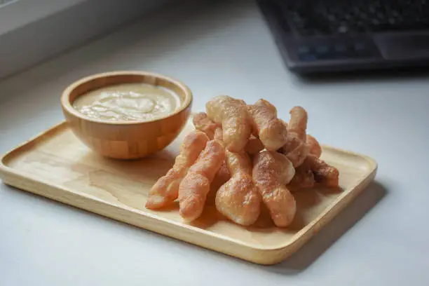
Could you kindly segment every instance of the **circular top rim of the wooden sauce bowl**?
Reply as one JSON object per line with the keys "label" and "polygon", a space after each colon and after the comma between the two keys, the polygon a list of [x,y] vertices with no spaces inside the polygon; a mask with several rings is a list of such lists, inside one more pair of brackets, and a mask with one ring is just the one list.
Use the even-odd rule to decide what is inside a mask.
{"label": "circular top rim of the wooden sauce bowl", "polygon": [[[70,102],[70,94],[71,92],[76,89],[77,87],[81,86],[83,83],[87,83],[88,81],[93,81],[94,79],[100,79],[102,77],[106,76],[125,76],[125,75],[132,75],[132,76],[153,76],[158,79],[163,79],[165,81],[170,81],[171,83],[175,84],[176,86],[179,86],[184,91],[185,98],[182,104],[180,105],[179,109],[177,109],[175,112],[171,114],[165,114],[165,116],[158,117],[156,119],[152,119],[149,121],[142,121],[142,120],[133,120],[133,121],[104,121],[97,118],[92,118],[89,116],[86,116],[84,114],[81,114],[79,111],[77,111]],[[148,83],[151,84],[151,83]],[[182,81],[179,81],[177,79],[173,79],[170,76],[165,76],[163,74],[157,74],[151,71],[133,71],[133,70],[121,70],[121,71],[107,71],[102,72],[99,74],[92,74],[90,76],[85,76],[81,79],[78,79],[77,81],[74,81],[74,83],[71,83],[67,88],[65,88],[61,95],[61,105],[62,108],[67,111],[69,114],[72,114],[73,116],[79,117],[85,121],[90,121],[93,123],[103,123],[108,125],[135,125],[135,124],[142,124],[142,123],[153,123],[156,121],[162,121],[165,118],[170,118],[172,116],[175,116],[176,114],[181,113],[185,109],[187,109],[193,101],[193,95],[191,92],[191,89],[186,86]]]}

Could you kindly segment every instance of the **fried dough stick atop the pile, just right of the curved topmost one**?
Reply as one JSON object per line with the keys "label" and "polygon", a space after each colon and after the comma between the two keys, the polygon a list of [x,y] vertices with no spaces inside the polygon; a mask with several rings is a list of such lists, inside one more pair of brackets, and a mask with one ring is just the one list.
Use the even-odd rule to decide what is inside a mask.
{"label": "fried dough stick atop the pile, just right of the curved topmost one", "polygon": [[255,137],[259,137],[265,148],[275,151],[287,142],[287,128],[277,118],[277,111],[273,104],[266,100],[258,100],[253,105],[247,105],[250,115],[252,131]]}

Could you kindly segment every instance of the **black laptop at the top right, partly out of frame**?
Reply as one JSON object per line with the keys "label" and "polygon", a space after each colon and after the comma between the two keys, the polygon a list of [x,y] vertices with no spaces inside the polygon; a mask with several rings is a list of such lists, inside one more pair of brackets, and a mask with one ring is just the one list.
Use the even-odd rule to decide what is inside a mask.
{"label": "black laptop at the top right, partly out of frame", "polygon": [[257,0],[297,73],[429,67],[429,0]]}

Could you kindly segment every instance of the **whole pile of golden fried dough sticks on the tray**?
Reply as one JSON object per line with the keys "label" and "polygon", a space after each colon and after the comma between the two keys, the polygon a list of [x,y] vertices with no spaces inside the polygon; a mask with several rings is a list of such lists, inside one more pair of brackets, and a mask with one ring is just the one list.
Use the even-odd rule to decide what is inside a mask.
{"label": "whole pile of golden fried dough sticks on the tray", "polygon": [[306,134],[302,107],[290,110],[289,123],[262,99],[246,104],[220,95],[205,108],[193,116],[196,130],[184,138],[173,167],[151,188],[147,208],[178,199],[180,215],[191,222],[214,192],[217,210],[236,224],[254,224],[264,203],[273,223],[286,227],[297,212],[294,191],[338,186],[339,171],[320,160],[318,141]]}

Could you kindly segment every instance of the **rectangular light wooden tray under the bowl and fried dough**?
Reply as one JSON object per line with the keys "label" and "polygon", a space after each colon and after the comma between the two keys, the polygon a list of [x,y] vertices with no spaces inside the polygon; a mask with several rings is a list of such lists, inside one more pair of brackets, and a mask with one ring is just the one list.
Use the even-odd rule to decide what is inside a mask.
{"label": "rectangular light wooden tray under the bowl and fried dough", "polygon": [[266,212],[244,228],[205,207],[193,224],[177,208],[147,210],[147,193],[171,167],[184,135],[163,151],[140,161],[102,158],[83,145],[67,123],[47,130],[1,158],[5,184],[53,200],[184,240],[258,264],[275,264],[304,245],[374,179],[376,162],[367,156],[324,147],[322,158],[340,171],[341,189],[308,189],[295,194],[297,217],[288,229],[275,227]]}

